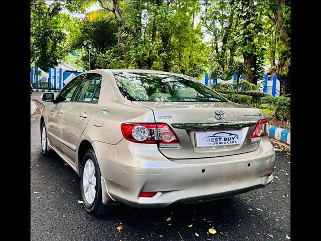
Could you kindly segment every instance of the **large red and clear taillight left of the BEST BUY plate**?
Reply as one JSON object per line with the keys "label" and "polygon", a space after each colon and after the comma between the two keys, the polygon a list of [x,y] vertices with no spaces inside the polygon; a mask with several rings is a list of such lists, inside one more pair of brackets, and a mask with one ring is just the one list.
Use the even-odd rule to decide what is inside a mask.
{"label": "large red and clear taillight left of the BEST BUY plate", "polygon": [[123,137],[131,142],[154,143],[162,148],[180,147],[174,131],[164,123],[123,123],[120,128]]}

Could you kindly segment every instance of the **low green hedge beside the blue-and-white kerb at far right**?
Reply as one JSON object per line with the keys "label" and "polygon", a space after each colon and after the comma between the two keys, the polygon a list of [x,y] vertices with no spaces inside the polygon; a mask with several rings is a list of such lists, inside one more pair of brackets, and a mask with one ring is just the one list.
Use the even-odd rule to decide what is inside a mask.
{"label": "low green hedge beside the blue-and-white kerb at far right", "polygon": [[291,98],[279,96],[266,96],[263,98],[264,103],[274,105],[276,110],[274,116],[281,121],[289,121],[291,118],[290,107]]}

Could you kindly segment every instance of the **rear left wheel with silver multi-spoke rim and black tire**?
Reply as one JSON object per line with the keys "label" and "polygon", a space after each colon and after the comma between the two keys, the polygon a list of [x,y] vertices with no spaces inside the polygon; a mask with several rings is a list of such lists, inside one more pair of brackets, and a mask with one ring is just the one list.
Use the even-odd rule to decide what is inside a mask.
{"label": "rear left wheel with silver multi-spoke rim and black tire", "polygon": [[81,164],[80,187],[85,210],[92,215],[105,214],[110,207],[102,203],[101,173],[93,149],[88,150]]}

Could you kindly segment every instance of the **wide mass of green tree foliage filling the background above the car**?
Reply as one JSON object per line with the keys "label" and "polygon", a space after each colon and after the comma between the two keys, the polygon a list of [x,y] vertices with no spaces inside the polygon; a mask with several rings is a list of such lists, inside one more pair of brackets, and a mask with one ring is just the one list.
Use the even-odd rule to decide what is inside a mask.
{"label": "wide mass of green tree foliage filling the background above the car", "polygon": [[[202,1],[101,2],[100,6],[110,10],[118,6],[120,17],[108,8],[87,13],[88,7],[97,1],[31,1],[31,42],[36,46],[32,48],[31,60],[37,49],[40,52],[36,53],[36,64],[45,71],[54,67],[57,59],[87,69],[89,56],[82,44],[86,40],[97,49],[95,55],[91,54],[91,69],[154,69],[197,79],[209,72],[211,41],[203,41],[205,31],[211,36],[212,32],[205,28]],[[287,2],[211,1],[207,24],[212,28],[214,21],[214,41],[219,42],[214,44],[213,51],[214,78],[228,80],[237,73],[241,85],[241,74],[246,74],[247,81],[252,80],[249,76],[259,79],[264,63],[277,58],[281,72],[287,73],[290,64]],[[72,13],[85,17],[72,17]],[[197,16],[201,20],[198,24]],[[277,22],[276,17],[280,17]],[[225,29],[224,20],[229,20],[231,26]],[[285,30],[282,36],[276,34],[280,27]],[[122,38],[119,43],[118,36]],[[69,55],[75,51],[77,59]],[[248,82],[243,84],[245,90],[257,90]]]}

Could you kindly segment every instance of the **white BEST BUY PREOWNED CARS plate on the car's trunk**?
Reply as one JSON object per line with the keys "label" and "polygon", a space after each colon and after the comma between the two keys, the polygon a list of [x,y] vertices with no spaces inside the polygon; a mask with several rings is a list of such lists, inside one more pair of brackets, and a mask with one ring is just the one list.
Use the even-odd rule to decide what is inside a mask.
{"label": "white BEST BUY PREOWNED CARS plate on the car's trunk", "polygon": [[196,147],[239,145],[242,131],[199,132],[195,134]]}

